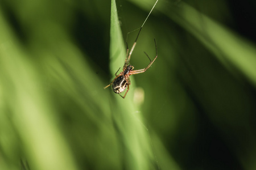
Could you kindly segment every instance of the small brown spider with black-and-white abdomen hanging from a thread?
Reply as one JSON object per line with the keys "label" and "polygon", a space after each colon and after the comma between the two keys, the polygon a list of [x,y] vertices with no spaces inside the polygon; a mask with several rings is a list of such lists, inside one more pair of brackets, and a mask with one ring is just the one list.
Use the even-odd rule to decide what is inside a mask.
{"label": "small brown spider with black-and-white abdomen hanging from a thread", "polygon": [[[143,27],[143,25],[142,25],[142,27]],[[142,29],[142,27],[141,27],[141,29]],[[139,29],[139,33],[141,32],[141,29]],[[150,57],[148,57],[147,53],[144,52],[146,54],[147,58],[150,59],[150,63],[147,65],[146,68],[140,69],[140,70],[133,70],[134,66],[129,65],[131,54],[133,53],[133,50],[137,43],[139,33],[134,41],[134,44],[130,50],[130,53],[129,53],[128,45],[126,43],[127,53],[126,53],[125,64],[123,65],[123,71],[121,73],[119,73],[118,75],[117,75],[117,73],[115,73],[114,80],[108,86],[104,87],[104,89],[106,89],[112,85],[113,91],[116,94],[119,94],[121,97],[123,97],[123,99],[125,99],[125,96],[126,96],[127,92],[129,91],[129,86],[131,85],[130,75],[144,73],[145,71],[147,71],[147,69],[149,69],[149,67],[152,65],[152,63],[154,63],[155,59],[158,57],[158,50],[157,50],[156,42],[155,42],[156,56],[153,61],[151,61],[151,59],[150,59]],[[155,39],[154,39],[154,41],[155,41]],[[119,70],[120,70],[120,68],[117,70],[117,72]],[[126,87],[127,87],[127,91],[125,92],[125,95],[122,96],[121,92],[125,91]]]}

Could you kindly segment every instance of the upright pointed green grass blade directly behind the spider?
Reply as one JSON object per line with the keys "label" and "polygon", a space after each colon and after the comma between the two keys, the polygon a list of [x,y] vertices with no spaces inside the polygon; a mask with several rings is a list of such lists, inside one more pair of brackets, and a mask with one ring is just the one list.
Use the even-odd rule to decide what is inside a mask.
{"label": "upright pointed green grass blade directly behind the spider", "polygon": [[[110,19],[110,69],[114,74],[125,62],[125,42],[119,26],[115,1],[111,4]],[[143,125],[140,109],[133,102],[134,82],[131,82],[130,91],[125,99],[115,95],[113,112],[117,124],[119,139],[125,146],[125,164],[127,169],[149,169],[152,161],[150,137]]]}

